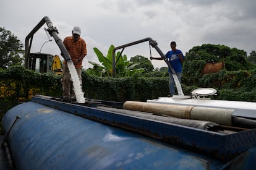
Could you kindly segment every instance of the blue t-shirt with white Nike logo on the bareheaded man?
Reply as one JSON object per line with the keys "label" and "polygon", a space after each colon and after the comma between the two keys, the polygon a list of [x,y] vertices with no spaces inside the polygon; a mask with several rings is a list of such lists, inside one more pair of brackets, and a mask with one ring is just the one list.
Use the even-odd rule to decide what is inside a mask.
{"label": "blue t-shirt with white Nike logo on the bareheaded man", "polygon": [[[179,50],[179,49],[176,49],[176,51],[173,51],[173,50],[168,51],[168,53],[166,53],[165,56],[169,59],[169,62],[171,64],[171,66],[173,67],[173,69],[175,70],[175,72],[176,73],[181,73],[182,72],[181,59],[179,59],[177,54],[181,54],[182,57],[185,59],[181,50]],[[170,69],[169,69],[169,72],[171,72]]]}

